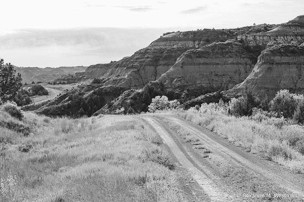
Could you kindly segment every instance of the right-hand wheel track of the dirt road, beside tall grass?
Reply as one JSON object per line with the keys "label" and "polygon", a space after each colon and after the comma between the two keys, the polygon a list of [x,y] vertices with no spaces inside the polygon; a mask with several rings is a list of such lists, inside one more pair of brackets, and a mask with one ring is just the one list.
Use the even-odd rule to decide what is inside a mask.
{"label": "right-hand wheel track of the dirt road, beside tall grass", "polygon": [[260,173],[266,178],[271,179],[278,186],[284,189],[288,189],[301,197],[304,197],[304,175],[288,172],[286,169],[279,167],[277,163],[261,160],[252,154],[250,157],[250,154],[242,153],[237,149],[233,149],[233,146],[227,146],[227,144],[223,143],[223,141],[219,141],[218,138],[214,137],[214,133],[210,135],[206,132],[202,132],[201,126],[190,123],[186,120],[183,120],[182,118],[175,118],[168,115],[154,115],[154,117],[160,119],[165,118],[174,122],[175,124],[186,128],[194,135],[196,135],[202,142],[208,145],[211,150],[216,151],[222,157],[233,160],[234,162],[247,167],[255,173]]}

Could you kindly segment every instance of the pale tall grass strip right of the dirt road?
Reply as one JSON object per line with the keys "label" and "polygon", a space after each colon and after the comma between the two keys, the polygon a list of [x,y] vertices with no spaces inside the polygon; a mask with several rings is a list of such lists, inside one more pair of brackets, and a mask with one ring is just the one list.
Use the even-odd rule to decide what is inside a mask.
{"label": "pale tall grass strip right of the dirt road", "polygon": [[244,150],[304,173],[304,127],[268,117],[235,117],[219,104],[202,104],[199,110],[162,111],[214,131]]}

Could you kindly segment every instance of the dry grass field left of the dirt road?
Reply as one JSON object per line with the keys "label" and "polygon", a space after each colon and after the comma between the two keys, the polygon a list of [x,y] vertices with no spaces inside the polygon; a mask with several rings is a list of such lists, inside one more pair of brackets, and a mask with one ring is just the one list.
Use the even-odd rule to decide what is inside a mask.
{"label": "dry grass field left of the dirt road", "polygon": [[133,116],[0,117],[0,201],[183,201],[169,154]]}

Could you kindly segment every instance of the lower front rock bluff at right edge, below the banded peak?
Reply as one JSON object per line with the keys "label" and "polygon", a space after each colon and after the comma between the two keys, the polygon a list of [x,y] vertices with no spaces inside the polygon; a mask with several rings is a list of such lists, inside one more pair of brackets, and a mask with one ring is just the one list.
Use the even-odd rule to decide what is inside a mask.
{"label": "lower front rock bluff at right edge, below the banded peak", "polygon": [[[276,45],[278,46],[278,45]],[[304,93],[304,45],[296,48],[285,45],[287,52],[275,52],[275,47],[266,49],[254,66],[253,71],[244,82],[231,89],[232,92],[240,92],[245,86],[251,86],[260,99],[268,96],[273,99],[281,89],[289,89],[292,93]],[[277,48],[277,47],[276,47]]]}

